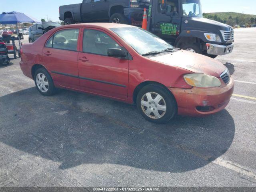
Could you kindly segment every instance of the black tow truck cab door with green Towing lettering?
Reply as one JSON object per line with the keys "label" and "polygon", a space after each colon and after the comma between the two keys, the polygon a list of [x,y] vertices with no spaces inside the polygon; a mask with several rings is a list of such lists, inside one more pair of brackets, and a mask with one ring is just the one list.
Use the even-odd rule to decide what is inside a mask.
{"label": "black tow truck cab door with green Towing lettering", "polygon": [[181,24],[179,1],[157,0],[153,3],[152,32],[167,42],[175,42]]}

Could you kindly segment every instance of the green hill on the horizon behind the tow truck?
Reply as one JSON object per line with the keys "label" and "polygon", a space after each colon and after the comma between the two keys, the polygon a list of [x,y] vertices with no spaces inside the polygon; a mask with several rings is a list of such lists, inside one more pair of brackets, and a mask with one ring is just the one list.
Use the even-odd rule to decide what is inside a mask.
{"label": "green hill on the horizon behind the tow truck", "polygon": [[216,20],[228,25],[234,26],[246,25],[248,23],[256,23],[256,15],[235,13],[235,12],[216,12],[216,13],[204,13],[204,18]]}

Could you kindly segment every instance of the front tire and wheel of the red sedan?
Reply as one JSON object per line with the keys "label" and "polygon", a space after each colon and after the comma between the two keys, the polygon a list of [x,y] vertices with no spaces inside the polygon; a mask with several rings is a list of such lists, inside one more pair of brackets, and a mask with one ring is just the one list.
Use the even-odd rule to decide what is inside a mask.
{"label": "front tire and wheel of the red sedan", "polygon": [[158,124],[167,123],[177,113],[177,103],[172,93],[157,84],[144,86],[137,95],[136,105],[146,120]]}

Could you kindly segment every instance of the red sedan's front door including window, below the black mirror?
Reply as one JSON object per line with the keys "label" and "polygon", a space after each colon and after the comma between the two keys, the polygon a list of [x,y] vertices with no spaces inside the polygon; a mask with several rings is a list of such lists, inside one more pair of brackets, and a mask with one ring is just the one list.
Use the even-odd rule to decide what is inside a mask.
{"label": "red sedan's front door including window, below the black mirror", "polygon": [[108,48],[122,48],[121,44],[106,32],[84,29],[80,48],[78,70],[81,89],[126,101],[129,61],[107,54]]}

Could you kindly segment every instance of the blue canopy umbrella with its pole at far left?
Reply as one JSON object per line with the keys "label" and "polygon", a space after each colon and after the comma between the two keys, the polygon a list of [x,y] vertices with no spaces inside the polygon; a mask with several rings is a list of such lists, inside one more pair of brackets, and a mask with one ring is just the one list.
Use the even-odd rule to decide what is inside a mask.
{"label": "blue canopy umbrella with its pole at far left", "polygon": [[24,13],[19,13],[15,11],[3,12],[2,14],[0,14],[0,24],[16,24],[19,45],[21,47],[18,23],[40,23],[40,22],[32,17],[26,16]]}

